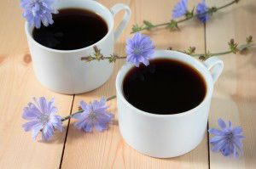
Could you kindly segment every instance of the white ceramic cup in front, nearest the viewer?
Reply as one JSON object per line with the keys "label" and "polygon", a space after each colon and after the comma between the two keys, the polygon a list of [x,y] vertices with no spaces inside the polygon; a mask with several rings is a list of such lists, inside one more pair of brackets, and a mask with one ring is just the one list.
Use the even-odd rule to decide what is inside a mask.
{"label": "white ceramic cup in front, nearest the viewer", "polygon": [[205,99],[194,109],[175,115],[155,115],[138,110],[124,97],[123,80],[133,67],[124,65],[119,70],[115,83],[119,131],[127,144],[145,155],[158,158],[183,155],[195,149],[204,138],[213,84],[221,74],[224,64],[216,57],[201,63],[188,54],[170,50],[158,50],[154,53],[154,58],[180,60],[198,70],[207,84]]}

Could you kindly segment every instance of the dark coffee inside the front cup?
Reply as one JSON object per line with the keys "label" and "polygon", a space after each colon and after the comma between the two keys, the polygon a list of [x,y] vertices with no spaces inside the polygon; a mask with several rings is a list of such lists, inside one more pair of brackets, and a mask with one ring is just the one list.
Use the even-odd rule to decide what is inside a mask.
{"label": "dark coffee inside the front cup", "polygon": [[182,113],[201,104],[206,82],[191,66],[173,59],[154,59],[132,68],[123,82],[125,99],[152,114]]}

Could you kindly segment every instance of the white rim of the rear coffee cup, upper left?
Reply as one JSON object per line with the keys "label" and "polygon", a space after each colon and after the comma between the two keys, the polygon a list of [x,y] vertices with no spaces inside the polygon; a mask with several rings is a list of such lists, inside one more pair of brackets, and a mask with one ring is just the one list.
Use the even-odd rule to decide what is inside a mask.
{"label": "white rim of the rear coffee cup, upper left", "polygon": [[[61,1],[58,2],[58,3],[61,3]],[[32,37],[32,33],[29,32],[29,29],[33,29],[34,26],[29,25],[29,23],[27,21],[25,22],[26,37],[30,38],[30,40],[32,40],[32,42],[35,45],[38,45],[39,48],[44,48],[45,50],[48,50],[50,52],[61,53],[61,54],[63,54],[63,53],[77,53],[77,52],[81,52],[81,51],[84,51],[84,50],[86,50],[88,48],[92,48],[93,46],[96,46],[99,43],[105,41],[109,37],[111,31],[113,30],[113,14],[111,14],[109,9],[107,7],[105,7],[104,5],[102,5],[102,3],[98,3],[96,1],[83,1],[83,3],[94,3],[95,5],[98,5],[100,8],[103,8],[108,14],[110,14],[112,16],[111,19],[110,19],[110,24],[109,24],[110,27],[108,28],[108,33],[104,37],[102,37],[101,40],[91,44],[90,46],[87,46],[87,47],[84,47],[84,48],[73,49],[73,50],[59,50],[59,49],[54,49],[54,48],[48,48],[48,47],[45,47],[44,45],[40,44],[39,42],[35,41],[35,39]],[[60,8],[58,8],[58,9],[60,9]],[[88,8],[88,10],[90,10],[90,9]],[[102,15],[100,15],[100,16],[102,17]],[[104,20],[104,21],[108,23],[107,20]]]}

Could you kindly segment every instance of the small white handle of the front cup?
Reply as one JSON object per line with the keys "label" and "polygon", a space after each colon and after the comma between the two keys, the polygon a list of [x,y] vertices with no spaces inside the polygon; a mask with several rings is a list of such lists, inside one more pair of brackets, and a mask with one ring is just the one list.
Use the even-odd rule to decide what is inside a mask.
{"label": "small white handle of the front cup", "polygon": [[210,71],[213,83],[216,82],[218,80],[218,76],[220,76],[224,68],[223,61],[221,59],[218,59],[217,57],[211,57],[204,61],[203,64]]}

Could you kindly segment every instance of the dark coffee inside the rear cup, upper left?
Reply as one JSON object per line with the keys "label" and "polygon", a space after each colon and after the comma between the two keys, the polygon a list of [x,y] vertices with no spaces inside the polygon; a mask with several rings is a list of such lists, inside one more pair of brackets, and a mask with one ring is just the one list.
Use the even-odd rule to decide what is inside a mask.
{"label": "dark coffee inside the rear cup, upper left", "polygon": [[65,8],[53,14],[54,24],[32,32],[33,38],[48,48],[73,50],[88,47],[108,33],[101,16],[89,10]]}

